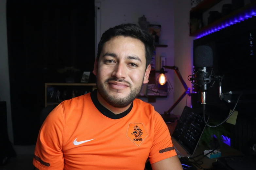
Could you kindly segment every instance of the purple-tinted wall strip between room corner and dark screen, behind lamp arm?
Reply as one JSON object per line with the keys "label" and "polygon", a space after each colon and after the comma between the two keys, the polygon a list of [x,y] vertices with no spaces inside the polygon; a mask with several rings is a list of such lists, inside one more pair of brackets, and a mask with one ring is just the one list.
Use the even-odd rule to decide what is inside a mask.
{"label": "purple-tinted wall strip between room corner and dark screen, behind lamp arm", "polygon": [[[192,89],[192,84],[188,81],[188,75],[192,73],[193,62],[193,39],[189,36],[189,11],[191,9],[190,1],[174,1],[174,64],[179,67],[180,74],[187,86]],[[174,101],[184,92],[184,88],[178,77],[174,76]],[[180,115],[184,106],[186,106],[185,96],[174,108],[174,114]],[[187,106],[191,106],[191,97],[187,99]]]}

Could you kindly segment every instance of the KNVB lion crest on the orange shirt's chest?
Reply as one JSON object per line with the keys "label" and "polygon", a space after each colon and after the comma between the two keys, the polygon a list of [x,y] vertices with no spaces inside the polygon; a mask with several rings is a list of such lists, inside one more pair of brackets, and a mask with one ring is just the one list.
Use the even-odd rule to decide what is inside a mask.
{"label": "KNVB lion crest on the orange shirt's chest", "polygon": [[140,146],[148,135],[143,123],[129,123],[126,136]]}

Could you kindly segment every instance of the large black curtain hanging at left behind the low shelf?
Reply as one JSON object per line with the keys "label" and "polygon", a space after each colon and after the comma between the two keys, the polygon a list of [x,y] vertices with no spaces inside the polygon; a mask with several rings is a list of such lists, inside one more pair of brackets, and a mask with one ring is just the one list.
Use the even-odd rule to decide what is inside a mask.
{"label": "large black curtain hanging at left behind the low shelf", "polygon": [[65,82],[66,66],[94,66],[94,0],[7,0],[11,113],[15,145],[36,143],[44,83]]}

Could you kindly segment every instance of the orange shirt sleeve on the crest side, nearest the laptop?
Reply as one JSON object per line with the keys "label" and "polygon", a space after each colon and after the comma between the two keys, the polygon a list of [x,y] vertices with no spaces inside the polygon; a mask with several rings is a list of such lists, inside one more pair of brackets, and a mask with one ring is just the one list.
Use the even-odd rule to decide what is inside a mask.
{"label": "orange shirt sleeve on the crest side, nearest the laptop", "polygon": [[150,163],[156,163],[177,155],[169,129],[159,113],[154,115],[154,139],[149,152]]}

